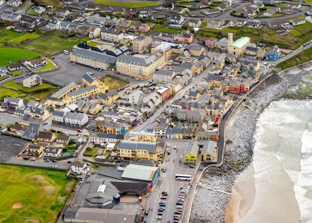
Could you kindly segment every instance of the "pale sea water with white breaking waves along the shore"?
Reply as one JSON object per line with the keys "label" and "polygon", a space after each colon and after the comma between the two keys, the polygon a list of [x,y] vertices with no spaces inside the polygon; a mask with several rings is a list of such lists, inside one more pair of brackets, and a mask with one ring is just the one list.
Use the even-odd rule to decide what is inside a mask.
{"label": "pale sea water with white breaking waves along the shore", "polygon": [[312,101],[281,100],[255,134],[255,202],[241,222],[312,222]]}

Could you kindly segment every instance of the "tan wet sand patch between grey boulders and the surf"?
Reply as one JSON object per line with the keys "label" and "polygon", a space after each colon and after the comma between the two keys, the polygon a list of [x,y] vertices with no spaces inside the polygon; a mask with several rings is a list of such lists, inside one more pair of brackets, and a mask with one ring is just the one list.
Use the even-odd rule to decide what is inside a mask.
{"label": "tan wet sand patch between grey boulders and the surf", "polygon": [[256,196],[255,169],[253,163],[236,179],[233,186],[233,195],[225,209],[225,222],[238,223],[251,209]]}

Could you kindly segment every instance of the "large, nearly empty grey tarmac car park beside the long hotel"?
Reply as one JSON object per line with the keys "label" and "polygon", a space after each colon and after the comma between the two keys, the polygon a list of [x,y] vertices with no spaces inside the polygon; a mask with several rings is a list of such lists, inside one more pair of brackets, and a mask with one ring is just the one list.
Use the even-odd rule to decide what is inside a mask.
{"label": "large, nearly empty grey tarmac car park beside the long hotel", "polygon": [[60,87],[68,85],[71,82],[80,84],[82,82],[82,75],[86,72],[94,73],[95,77],[103,75],[102,72],[93,70],[93,67],[88,65],[71,63],[69,54],[66,55],[64,53],[60,53],[55,55],[53,61],[59,65],[60,69],[42,73],[40,74],[40,77],[48,83],[56,84]]}

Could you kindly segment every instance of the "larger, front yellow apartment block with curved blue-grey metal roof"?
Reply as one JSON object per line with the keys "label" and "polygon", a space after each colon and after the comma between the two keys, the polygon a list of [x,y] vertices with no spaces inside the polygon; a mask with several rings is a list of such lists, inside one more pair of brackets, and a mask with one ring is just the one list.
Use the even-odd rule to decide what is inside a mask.
{"label": "larger, front yellow apartment block with curved blue-grey metal roof", "polygon": [[157,143],[122,140],[117,150],[122,160],[163,160],[163,148]]}

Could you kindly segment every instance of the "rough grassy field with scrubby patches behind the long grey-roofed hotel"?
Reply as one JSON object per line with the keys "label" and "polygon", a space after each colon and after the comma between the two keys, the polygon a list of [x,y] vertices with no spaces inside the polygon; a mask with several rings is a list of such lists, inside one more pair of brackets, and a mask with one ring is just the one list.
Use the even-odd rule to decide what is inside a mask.
{"label": "rough grassy field with scrubby patches behind the long grey-roofed hotel", "polygon": [[77,36],[68,38],[60,30],[53,30],[46,35],[23,44],[21,47],[30,51],[39,51],[46,55],[55,54],[63,50],[69,50],[81,41],[89,41],[89,36],[78,38]]}

